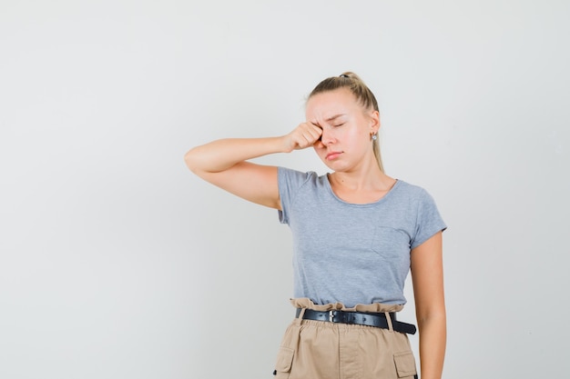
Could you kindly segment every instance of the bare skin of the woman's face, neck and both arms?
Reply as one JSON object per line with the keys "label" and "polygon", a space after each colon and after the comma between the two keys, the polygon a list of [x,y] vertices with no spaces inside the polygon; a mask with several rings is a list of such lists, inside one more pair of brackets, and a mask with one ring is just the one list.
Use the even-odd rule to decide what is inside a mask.
{"label": "bare skin of the woman's face, neck and both arms", "polygon": [[[334,193],[353,204],[368,204],[387,194],[396,180],[380,170],[371,136],[378,133],[378,111],[364,109],[346,88],[313,95],[306,122],[289,134],[268,138],[223,139],[194,147],[188,168],[213,185],[250,202],[281,209],[277,167],[250,159],[312,147],[333,171]],[[422,379],[440,379],[445,352],[442,233],[412,249],[411,272],[420,331]]]}

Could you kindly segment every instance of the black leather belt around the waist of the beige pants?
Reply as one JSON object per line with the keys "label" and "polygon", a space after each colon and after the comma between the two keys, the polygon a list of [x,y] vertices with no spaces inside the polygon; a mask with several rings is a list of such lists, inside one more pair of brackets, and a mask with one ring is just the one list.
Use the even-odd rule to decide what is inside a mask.
{"label": "black leather belt around the waist of the beige pants", "polygon": [[[295,317],[299,317],[300,309],[297,308]],[[390,313],[392,320],[392,329],[396,332],[415,334],[415,325],[401,323],[396,321],[396,314]],[[390,329],[386,314],[367,314],[361,312],[344,312],[344,311],[314,311],[312,309],[305,309],[303,320],[316,320],[316,321],[329,321],[331,323],[341,324],[359,324],[376,326],[377,328]]]}

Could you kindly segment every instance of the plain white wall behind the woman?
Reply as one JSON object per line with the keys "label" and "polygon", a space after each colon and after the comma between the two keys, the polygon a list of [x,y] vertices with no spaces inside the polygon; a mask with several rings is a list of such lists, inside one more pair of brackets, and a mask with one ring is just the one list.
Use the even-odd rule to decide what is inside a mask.
{"label": "plain white wall behind the woman", "polygon": [[[564,376],[569,15],[562,0],[1,0],[0,377],[272,377],[290,231],[183,155],[289,132],[347,70],[379,99],[388,174],[449,225],[444,377]],[[261,162],[326,168],[312,151]]]}

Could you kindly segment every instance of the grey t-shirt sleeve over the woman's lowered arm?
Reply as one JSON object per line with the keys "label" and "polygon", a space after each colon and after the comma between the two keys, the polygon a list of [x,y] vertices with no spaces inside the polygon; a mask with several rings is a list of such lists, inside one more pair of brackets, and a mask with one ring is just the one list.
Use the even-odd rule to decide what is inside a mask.
{"label": "grey t-shirt sleeve over the woman's lowered arm", "polygon": [[415,234],[412,238],[411,248],[423,244],[430,239],[433,234],[444,231],[447,226],[443,222],[442,216],[437,210],[433,197],[422,190],[419,198],[418,214],[415,225]]}

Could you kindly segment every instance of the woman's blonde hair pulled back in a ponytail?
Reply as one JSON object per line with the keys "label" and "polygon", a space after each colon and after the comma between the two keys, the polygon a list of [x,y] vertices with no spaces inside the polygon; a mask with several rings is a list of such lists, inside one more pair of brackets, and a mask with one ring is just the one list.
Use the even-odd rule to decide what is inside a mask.
{"label": "woman's blonde hair pulled back in a ponytail", "polygon": [[[351,91],[351,94],[356,97],[356,101],[358,101],[364,109],[373,109],[380,112],[376,96],[374,96],[370,88],[362,82],[359,75],[351,72],[342,73],[339,76],[331,76],[324,79],[310,92],[308,99],[313,95],[334,91],[339,88],[348,88]],[[372,140],[372,150],[374,151],[374,156],[376,157],[378,166],[383,173],[384,166],[382,165],[382,155],[380,154],[380,138]]]}

